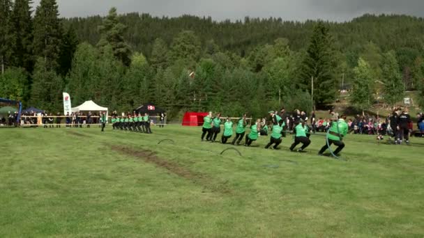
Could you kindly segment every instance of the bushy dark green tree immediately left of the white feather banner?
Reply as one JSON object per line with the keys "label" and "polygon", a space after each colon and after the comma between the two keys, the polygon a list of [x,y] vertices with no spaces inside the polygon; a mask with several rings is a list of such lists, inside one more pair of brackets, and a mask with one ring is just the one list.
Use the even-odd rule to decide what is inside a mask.
{"label": "bushy dark green tree immediately left of the white feather banner", "polygon": [[46,58],[38,57],[33,72],[31,105],[56,111],[61,109],[63,81],[48,65]]}

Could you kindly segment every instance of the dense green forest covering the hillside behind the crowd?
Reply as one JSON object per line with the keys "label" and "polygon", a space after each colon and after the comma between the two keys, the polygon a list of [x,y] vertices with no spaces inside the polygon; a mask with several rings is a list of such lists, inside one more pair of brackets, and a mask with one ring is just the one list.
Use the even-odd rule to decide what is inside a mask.
{"label": "dense green forest covering the hillside behind the crowd", "polygon": [[[424,95],[424,19],[363,15],[350,22],[285,22],[119,15],[62,19],[55,0],[0,0],[0,97],[62,111],[94,100],[118,111],[153,102],[179,116],[221,111],[260,116],[284,105],[335,102],[341,81],[351,104],[377,95],[393,105]],[[190,74],[194,72],[193,74]],[[191,75],[191,76],[190,76]],[[381,86],[382,85],[382,86]]]}

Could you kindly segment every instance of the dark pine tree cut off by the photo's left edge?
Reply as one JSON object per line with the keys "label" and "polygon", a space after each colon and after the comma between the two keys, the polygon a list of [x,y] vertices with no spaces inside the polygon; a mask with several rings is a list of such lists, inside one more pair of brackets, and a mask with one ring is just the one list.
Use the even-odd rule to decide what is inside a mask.
{"label": "dark pine tree cut off by the photo's left edge", "polygon": [[13,63],[15,33],[12,22],[12,1],[0,0],[0,67],[1,74]]}

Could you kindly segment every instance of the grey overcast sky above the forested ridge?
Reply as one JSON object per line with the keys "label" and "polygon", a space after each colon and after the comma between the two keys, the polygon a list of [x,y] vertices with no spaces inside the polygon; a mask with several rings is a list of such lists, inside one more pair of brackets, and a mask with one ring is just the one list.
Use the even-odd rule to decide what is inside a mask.
{"label": "grey overcast sky above the forested ridge", "polygon": [[[40,0],[34,0],[38,5]],[[424,0],[57,0],[61,17],[106,15],[115,6],[119,13],[150,13],[176,17],[211,16],[216,20],[281,17],[287,20],[345,21],[364,13],[398,13],[424,16]]]}

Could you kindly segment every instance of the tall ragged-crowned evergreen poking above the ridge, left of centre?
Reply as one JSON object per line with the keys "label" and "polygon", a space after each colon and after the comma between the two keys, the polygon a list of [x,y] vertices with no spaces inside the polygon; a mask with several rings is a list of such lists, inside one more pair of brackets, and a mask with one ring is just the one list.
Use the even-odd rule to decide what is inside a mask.
{"label": "tall ragged-crowned evergreen poking above the ridge, left of centre", "polygon": [[109,10],[109,15],[103,19],[102,25],[98,27],[98,30],[101,35],[98,47],[110,45],[113,49],[114,56],[124,65],[130,65],[130,47],[123,38],[126,26],[119,22],[116,8]]}

